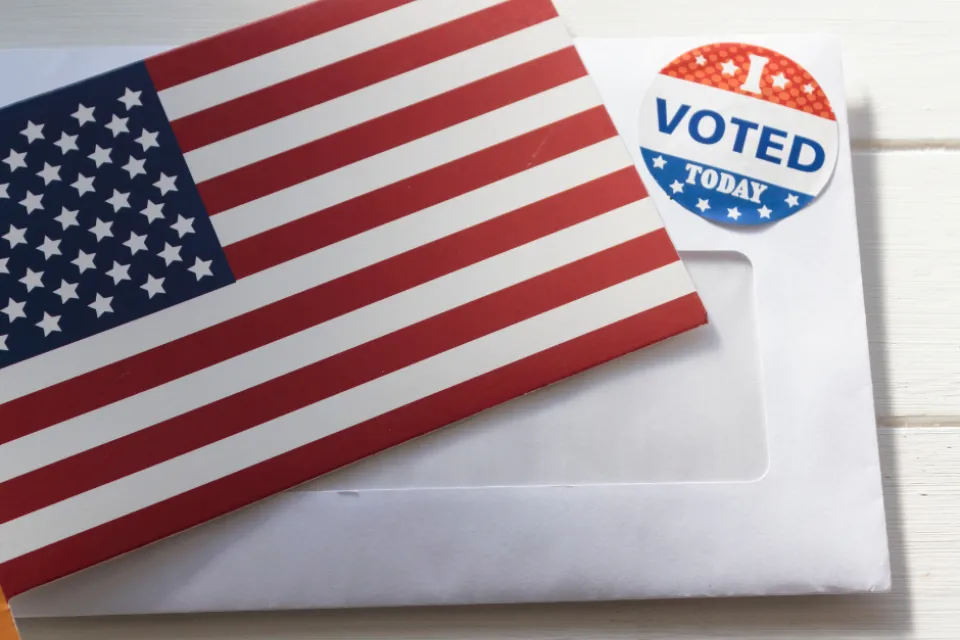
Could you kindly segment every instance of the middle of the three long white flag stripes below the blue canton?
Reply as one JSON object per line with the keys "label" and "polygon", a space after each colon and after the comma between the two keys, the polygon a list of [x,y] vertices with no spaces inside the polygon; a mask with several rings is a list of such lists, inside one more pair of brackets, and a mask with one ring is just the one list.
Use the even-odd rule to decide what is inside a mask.
{"label": "middle of the three long white flag stripes below the blue canton", "polygon": [[648,198],[0,446],[0,482],[146,429],[662,227]]}

